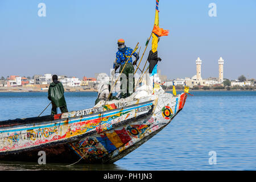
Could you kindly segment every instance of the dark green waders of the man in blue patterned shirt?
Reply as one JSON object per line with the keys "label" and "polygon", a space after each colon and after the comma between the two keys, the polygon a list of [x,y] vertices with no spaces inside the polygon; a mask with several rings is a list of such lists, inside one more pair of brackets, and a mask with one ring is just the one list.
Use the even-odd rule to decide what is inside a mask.
{"label": "dark green waders of the man in blue patterned shirt", "polygon": [[[121,65],[121,67],[119,68],[119,73],[121,73],[123,66],[125,64]],[[129,73],[132,74],[130,76],[130,80],[129,80]],[[122,75],[125,75],[127,81],[122,81]],[[131,63],[127,63],[125,66],[125,69],[123,69],[123,73],[122,73],[121,77],[120,77],[120,81],[121,81],[121,98],[126,98],[131,96],[131,94],[134,92],[134,86],[135,86],[135,78],[134,78],[134,67],[133,64]],[[126,86],[125,90],[122,90],[123,86]],[[129,93],[130,90],[130,93]]]}

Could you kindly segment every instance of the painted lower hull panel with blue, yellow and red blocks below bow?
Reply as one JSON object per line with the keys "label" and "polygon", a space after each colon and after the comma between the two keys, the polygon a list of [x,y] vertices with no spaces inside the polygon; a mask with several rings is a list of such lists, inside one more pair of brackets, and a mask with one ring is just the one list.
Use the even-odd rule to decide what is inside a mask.
{"label": "painted lower hull panel with blue, yellow and red blocks below bow", "polygon": [[[94,145],[92,147],[86,146],[81,150],[82,146],[79,146],[76,143],[72,143],[71,146],[80,158],[85,159],[85,162],[93,162],[94,160],[103,158],[111,160],[122,151],[134,146],[136,143],[142,143],[144,138],[152,133],[158,132],[170,123],[172,118],[175,117],[175,114],[177,114],[173,113],[172,110],[176,111],[177,105],[180,106],[179,110],[182,109],[185,103],[185,98],[185,95],[178,97],[177,100],[176,98],[170,98],[169,100],[164,98],[163,100],[165,100],[164,104],[166,104],[166,106],[162,106],[163,102],[158,99],[158,103],[155,106],[156,109],[154,114],[152,114],[152,117],[133,121],[131,124],[124,125],[118,129],[104,131],[103,133],[97,134],[94,138],[97,143],[95,146],[97,147]],[[89,137],[81,140],[80,142],[88,139]],[[146,142],[146,140],[143,142]],[[89,152],[92,151],[94,151],[92,152],[93,154],[97,154],[97,150],[101,150],[102,153],[104,152],[104,155],[102,155],[102,153],[100,155],[90,155]],[[86,154],[87,151],[89,152]]]}

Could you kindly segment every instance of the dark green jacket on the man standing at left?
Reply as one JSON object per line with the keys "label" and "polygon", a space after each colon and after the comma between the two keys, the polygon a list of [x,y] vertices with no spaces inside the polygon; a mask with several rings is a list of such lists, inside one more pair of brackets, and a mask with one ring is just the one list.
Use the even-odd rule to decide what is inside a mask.
{"label": "dark green jacket on the man standing at left", "polygon": [[48,99],[52,101],[52,105],[56,107],[65,106],[64,88],[61,82],[54,80],[48,89]]}

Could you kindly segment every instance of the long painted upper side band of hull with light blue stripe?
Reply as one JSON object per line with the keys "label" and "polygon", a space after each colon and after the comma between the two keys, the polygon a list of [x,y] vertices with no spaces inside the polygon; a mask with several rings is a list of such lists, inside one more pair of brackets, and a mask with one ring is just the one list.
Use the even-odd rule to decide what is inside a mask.
{"label": "long painted upper side band of hull with light blue stripe", "polygon": [[[90,131],[111,130],[114,123],[131,119],[135,115],[138,116],[139,113],[135,114],[135,109],[152,105],[152,102],[147,102],[144,105],[130,105],[125,108],[119,107],[124,105],[127,106],[127,104],[119,103],[105,105],[102,109],[73,111],[71,113],[75,115],[85,114],[75,118],[69,117],[72,114],[64,113],[65,115],[55,116],[54,118],[58,118],[55,121],[24,124],[15,127],[0,127],[0,154],[1,152],[18,151],[71,139]],[[105,110],[107,113],[93,113],[99,110]]]}

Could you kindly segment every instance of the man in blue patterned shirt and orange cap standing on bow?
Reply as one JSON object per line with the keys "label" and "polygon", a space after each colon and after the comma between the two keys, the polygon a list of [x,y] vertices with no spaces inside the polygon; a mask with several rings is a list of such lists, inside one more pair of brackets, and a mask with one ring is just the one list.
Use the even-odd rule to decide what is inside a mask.
{"label": "man in blue patterned shirt and orange cap standing on bow", "polygon": [[[119,66],[119,73],[121,73],[123,66],[125,65],[126,61],[129,59],[131,56],[131,53],[133,53],[133,49],[130,47],[125,46],[125,40],[119,39],[118,42],[118,51],[116,53],[116,59],[115,63],[113,65],[113,69],[117,69]],[[123,81],[123,77],[121,76],[120,81],[121,81],[121,98],[126,98],[129,97],[133,92],[134,92],[134,86],[135,86],[135,80],[134,80],[134,65],[137,63],[137,60],[139,59],[139,55],[134,52],[133,56],[136,57],[135,61],[133,62],[133,59],[130,58],[128,63],[126,64],[125,68],[123,69],[123,76],[126,77],[127,81]],[[129,74],[130,74],[130,79],[129,79]],[[122,87],[126,86],[126,89],[123,90]],[[130,89],[129,89],[130,88]],[[133,88],[133,89],[131,89]],[[130,90],[130,92],[129,92]],[[131,92],[132,90],[132,92]]]}

